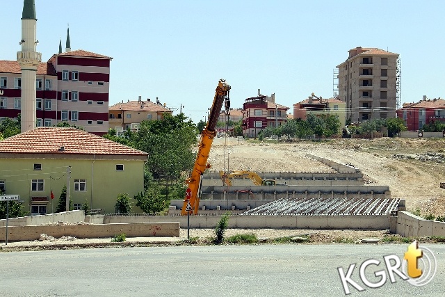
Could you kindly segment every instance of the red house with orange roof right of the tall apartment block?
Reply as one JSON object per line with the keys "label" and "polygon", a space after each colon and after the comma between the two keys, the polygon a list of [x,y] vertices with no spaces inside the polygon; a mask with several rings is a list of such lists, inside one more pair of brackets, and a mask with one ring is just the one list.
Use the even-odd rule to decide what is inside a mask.
{"label": "red house with orange roof right of the tall apartment block", "polygon": [[403,118],[408,131],[419,131],[423,125],[436,120],[445,122],[445,99],[427,99],[423,96],[419,102],[404,103],[396,113],[397,118]]}

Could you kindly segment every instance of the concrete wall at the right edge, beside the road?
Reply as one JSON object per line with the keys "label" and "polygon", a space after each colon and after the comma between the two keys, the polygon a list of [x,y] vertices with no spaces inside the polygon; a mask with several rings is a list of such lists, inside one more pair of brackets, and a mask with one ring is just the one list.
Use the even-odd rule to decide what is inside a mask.
{"label": "concrete wall at the right edge, beside the road", "polygon": [[396,229],[391,226],[391,232],[401,236],[445,236],[445,222],[425,220],[414,216],[409,211],[398,211]]}

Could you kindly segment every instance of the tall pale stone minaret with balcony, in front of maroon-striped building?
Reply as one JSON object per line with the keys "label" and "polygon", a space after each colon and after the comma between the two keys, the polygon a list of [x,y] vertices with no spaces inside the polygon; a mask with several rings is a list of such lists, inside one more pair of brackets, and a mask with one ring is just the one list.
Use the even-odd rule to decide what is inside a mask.
{"label": "tall pale stone minaret with balcony, in front of maroon-striped building", "polygon": [[42,54],[35,51],[38,40],[35,39],[34,0],[24,0],[22,13],[22,51],[17,51],[17,61],[22,69],[22,133],[35,128],[35,77],[37,67],[42,61]]}

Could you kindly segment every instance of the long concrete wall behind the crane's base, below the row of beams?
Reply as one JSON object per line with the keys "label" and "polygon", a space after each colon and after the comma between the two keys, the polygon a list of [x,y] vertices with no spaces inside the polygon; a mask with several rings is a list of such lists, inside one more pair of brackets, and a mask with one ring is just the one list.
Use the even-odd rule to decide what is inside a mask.
{"label": "long concrete wall behind the crane's base, below the row of beams", "polygon": [[[190,216],[191,228],[216,227],[221,216]],[[389,215],[381,216],[245,216],[232,215],[229,217],[229,228],[248,229],[389,229]],[[187,216],[104,216],[104,223],[143,223],[157,222],[168,219],[187,227]]]}

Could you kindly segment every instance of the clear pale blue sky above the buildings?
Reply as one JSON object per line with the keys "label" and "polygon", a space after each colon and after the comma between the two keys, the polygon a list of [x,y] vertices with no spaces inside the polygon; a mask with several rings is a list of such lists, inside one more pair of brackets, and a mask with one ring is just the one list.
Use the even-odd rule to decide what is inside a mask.
{"label": "clear pale blue sky above the buildings", "polygon": [[[63,4],[62,4],[63,3]],[[0,60],[20,50],[22,0],[1,0]],[[219,79],[232,108],[275,93],[293,112],[332,97],[333,70],[355,47],[400,54],[401,101],[445,97],[444,1],[35,0],[42,61],[63,50],[113,57],[109,104],[165,103],[204,120]]]}

